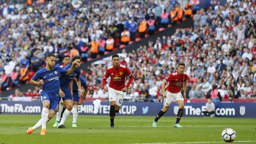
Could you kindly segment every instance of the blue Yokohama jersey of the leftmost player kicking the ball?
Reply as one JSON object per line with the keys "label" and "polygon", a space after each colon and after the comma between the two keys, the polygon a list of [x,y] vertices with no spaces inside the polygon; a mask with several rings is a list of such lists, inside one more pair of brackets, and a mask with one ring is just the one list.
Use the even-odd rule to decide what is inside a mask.
{"label": "blue Yokohama jersey of the leftmost player kicking the ball", "polygon": [[60,75],[65,75],[68,71],[66,69],[62,69],[58,66],[53,67],[52,70],[48,71],[46,68],[40,69],[33,76],[34,81],[39,81],[43,79],[43,91],[49,92],[53,95],[59,95],[59,77]]}

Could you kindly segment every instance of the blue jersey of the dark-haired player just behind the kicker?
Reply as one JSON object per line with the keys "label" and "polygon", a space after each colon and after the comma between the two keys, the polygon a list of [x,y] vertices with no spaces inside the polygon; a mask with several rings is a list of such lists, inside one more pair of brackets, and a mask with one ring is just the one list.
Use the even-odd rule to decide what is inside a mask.
{"label": "blue jersey of the dark-haired player just behind the kicker", "polygon": [[[71,68],[72,64],[66,65],[65,70],[68,70]],[[69,87],[69,83],[72,81],[73,78],[79,78],[79,75],[81,73],[81,69],[77,68],[71,75],[61,75],[60,76],[60,88],[65,89]]]}

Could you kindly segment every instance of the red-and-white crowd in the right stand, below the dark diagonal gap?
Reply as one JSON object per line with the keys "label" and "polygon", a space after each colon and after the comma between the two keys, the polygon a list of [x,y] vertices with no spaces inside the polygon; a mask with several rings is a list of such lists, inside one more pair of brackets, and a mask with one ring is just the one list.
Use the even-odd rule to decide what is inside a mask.
{"label": "red-and-white crowd in the right stand, below the dark diagonal gap", "polygon": [[[256,98],[256,3],[233,2],[222,7],[200,9],[194,28],[177,28],[172,36],[158,37],[131,53],[123,50],[121,63],[132,69],[135,82],[126,94],[132,101],[162,101],[162,79],[175,71],[177,62],[187,63],[190,99],[213,100]],[[103,72],[110,65],[91,65],[86,78],[94,93],[100,88]],[[93,89],[97,89],[93,92]],[[92,95],[93,93],[93,95]]]}

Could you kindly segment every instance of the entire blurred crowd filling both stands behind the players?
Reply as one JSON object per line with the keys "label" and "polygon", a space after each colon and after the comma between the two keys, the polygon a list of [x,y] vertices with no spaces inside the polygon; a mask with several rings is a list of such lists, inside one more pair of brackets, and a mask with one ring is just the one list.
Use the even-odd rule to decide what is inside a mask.
{"label": "entire blurred crowd filling both stands behind the players", "polygon": [[[177,1],[2,4],[0,89],[26,84],[44,66],[48,53],[58,56],[57,64],[65,55],[80,55],[87,62],[192,17],[194,27],[177,28],[174,34],[148,41],[130,53],[123,49],[120,62],[135,76],[125,99],[162,101],[162,80],[178,62],[187,64],[190,100],[255,99],[256,2],[228,0],[194,14],[192,7],[181,7]],[[107,58],[82,72],[89,85],[88,97],[108,97],[101,80],[109,65]],[[17,89],[14,96],[38,97],[38,91]]]}

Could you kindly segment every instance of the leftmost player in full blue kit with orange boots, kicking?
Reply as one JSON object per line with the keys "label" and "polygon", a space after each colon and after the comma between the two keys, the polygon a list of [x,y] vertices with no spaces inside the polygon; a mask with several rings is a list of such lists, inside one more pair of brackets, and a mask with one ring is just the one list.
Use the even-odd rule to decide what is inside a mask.
{"label": "leftmost player in full blue kit with orange boots, kicking", "polygon": [[59,76],[60,74],[71,75],[76,66],[79,65],[78,62],[73,62],[72,66],[66,70],[55,66],[55,63],[56,56],[50,53],[46,57],[46,67],[37,71],[30,81],[33,85],[41,85],[43,87],[43,91],[40,94],[43,109],[41,110],[41,119],[33,127],[27,129],[27,134],[31,134],[35,129],[41,127],[40,135],[46,135],[46,123],[55,115],[60,101]]}

